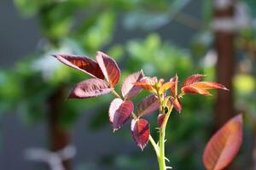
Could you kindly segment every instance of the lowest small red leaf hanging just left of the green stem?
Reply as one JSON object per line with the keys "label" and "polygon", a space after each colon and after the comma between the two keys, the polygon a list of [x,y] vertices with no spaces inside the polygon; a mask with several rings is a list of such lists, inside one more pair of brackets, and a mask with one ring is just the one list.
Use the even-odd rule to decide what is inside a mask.
{"label": "lowest small red leaf hanging just left of the green stem", "polygon": [[131,133],[137,145],[143,150],[148,144],[150,134],[148,121],[145,119],[133,119],[131,121]]}

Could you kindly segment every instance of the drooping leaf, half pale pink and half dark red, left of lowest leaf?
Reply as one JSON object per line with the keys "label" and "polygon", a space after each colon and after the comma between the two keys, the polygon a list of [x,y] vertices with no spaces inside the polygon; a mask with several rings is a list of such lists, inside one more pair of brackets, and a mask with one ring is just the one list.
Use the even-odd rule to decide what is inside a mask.
{"label": "drooping leaf, half pale pink and half dark red, left of lowest leaf", "polygon": [[131,101],[123,101],[122,99],[113,99],[109,106],[108,116],[112,123],[113,132],[118,130],[130,118],[133,111]]}

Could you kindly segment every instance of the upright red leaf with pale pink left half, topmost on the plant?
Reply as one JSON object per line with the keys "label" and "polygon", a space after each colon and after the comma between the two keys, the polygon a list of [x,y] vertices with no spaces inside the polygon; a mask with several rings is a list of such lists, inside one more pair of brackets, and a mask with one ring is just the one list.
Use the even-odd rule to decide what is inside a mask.
{"label": "upright red leaf with pale pink left half, topmost on the plant", "polygon": [[107,54],[100,51],[96,54],[96,60],[100,65],[103,75],[106,77],[111,87],[114,87],[119,82],[120,70],[117,63]]}

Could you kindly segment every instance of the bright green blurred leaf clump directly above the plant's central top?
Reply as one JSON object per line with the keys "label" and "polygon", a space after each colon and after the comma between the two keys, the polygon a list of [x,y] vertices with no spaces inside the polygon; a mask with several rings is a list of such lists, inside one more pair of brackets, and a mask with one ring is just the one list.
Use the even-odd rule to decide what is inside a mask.
{"label": "bright green blurred leaf clump directly above the plant's central top", "polygon": [[[156,72],[166,77],[175,73],[183,76],[184,71],[191,69],[189,53],[169,42],[161,42],[157,34],[150,34],[144,41],[127,43],[127,51],[131,59],[140,61],[131,62],[131,65],[143,65],[143,70],[152,76]],[[176,65],[175,63],[179,63]]]}

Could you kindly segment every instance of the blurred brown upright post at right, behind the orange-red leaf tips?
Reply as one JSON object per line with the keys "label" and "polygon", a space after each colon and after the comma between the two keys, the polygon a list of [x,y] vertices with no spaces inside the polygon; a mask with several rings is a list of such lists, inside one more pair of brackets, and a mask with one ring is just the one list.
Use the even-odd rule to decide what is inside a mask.
{"label": "blurred brown upright post at right, behind the orange-red leaf tips", "polygon": [[[226,8],[214,8],[214,20],[233,20],[234,16],[234,2]],[[217,26],[218,27],[218,26]],[[224,84],[226,88],[230,89],[230,92],[218,90],[218,96],[215,104],[215,117],[214,117],[214,129],[218,129],[223,126],[232,116],[235,115],[235,109],[233,105],[233,93],[232,93],[232,78],[235,65],[235,48],[234,48],[234,31],[224,31],[221,28],[217,28],[215,31],[215,48],[218,53],[218,62],[216,67],[217,82]],[[229,166],[229,170],[236,169],[234,166]]]}

